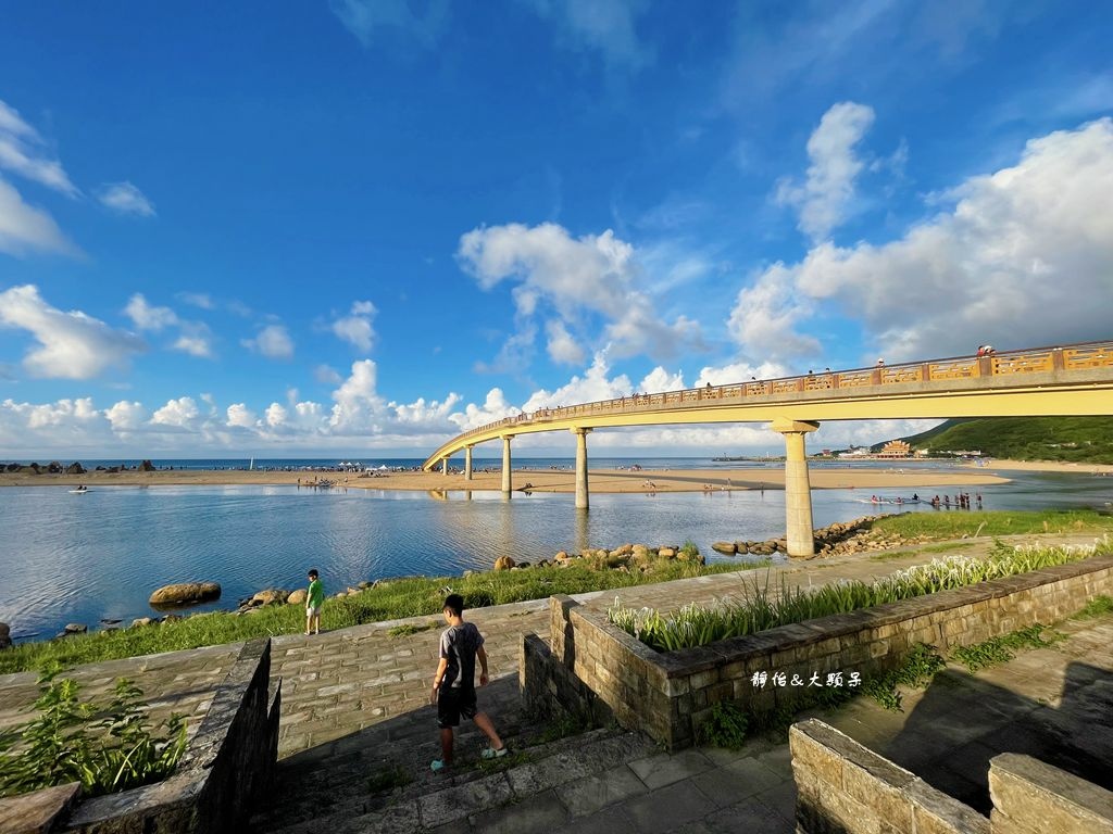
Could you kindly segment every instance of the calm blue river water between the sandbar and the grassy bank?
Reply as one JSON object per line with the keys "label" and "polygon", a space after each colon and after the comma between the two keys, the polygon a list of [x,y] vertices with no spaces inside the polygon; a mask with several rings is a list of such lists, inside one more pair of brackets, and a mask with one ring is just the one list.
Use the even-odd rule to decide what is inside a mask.
{"label": "calm blue river water between the sandbar and the grassy bank", "polygon": [[[1113,500],[1113,477],[1003,474],[1015,480],[966,492],[981,492],[986,509]],[[914,492],[942,490],[887,494]],[[874,512],[868,498],[863,489],[814,490],[816,526]],[[904,509],[937,512],[927,505]],[[784,535],[785,504],[779,490],[592,495],[583,514],[571,495],[552,494],[515,493],[506,502],[492,493],[285,486],[97,487],[85,496],[29,487],[0,489],[0,620],[20,639],[53,635],[70,622],[92,628],[102,618],[126,623],[149,615],[150,592],[170,582],[219,582],[224,596],[207,607],[232,608],[268,586],[303,585],[309,567],[322,572],[332,592],[363,579],[486,569],[503,554],[536,562],[560,549],[623,542],[691,539],[717,559],[712,542]]]}

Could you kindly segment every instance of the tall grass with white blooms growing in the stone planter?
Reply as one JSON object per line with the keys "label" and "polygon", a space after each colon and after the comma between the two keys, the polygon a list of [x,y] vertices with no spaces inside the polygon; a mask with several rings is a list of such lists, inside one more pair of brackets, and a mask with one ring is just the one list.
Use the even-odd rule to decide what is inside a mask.
{"label": "tall grass with white blooms growing in the stone planter", "polygon": [[948,556],[898,570],[868,585],[844,579],[812,589],[790,587],[782,575],[780,587],[770,590],[769,575],[766,574],[764,585],[757,577],[742,582],[742,598],[739,602],[716,606],[691,604],[676,614],[662,615],[651,608],[624,608],[615,600],[615,605],[608,609],[608,617],[650,648],[674,652],[1111,552],[1113,545],[1109,537],[1090,547],[1012,548],[998,544],[993,554],[984,559]]}

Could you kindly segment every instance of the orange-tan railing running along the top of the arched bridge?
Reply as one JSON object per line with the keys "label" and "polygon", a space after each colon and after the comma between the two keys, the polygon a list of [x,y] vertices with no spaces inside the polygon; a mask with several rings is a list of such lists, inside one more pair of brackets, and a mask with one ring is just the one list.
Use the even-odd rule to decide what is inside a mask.
{"label": "orange-tan railing running along the top of the arched bridge", "polygon": [[878,365],[874,368],[855,368],[823,374],[808,373],[804,376],[779,379],[709,385],[703,388],[686,388],[661,394],[633,394],[628,397],[583,403],[575,406],[539,408],[535,411],[523,411],[516,416],[504,417],[501,420],[469,429],[456,439],[466,440],[469,437],[489,434],[499,428],[512,428],[523,424],[549,423],[608,413],[653,410],[684,405],[698,407],[702,404],[737,403],[738,400],[784,394],[861,389],[871,386],[962,380],[977,377],[1009,377],[1055,370],[1070,373],[1110,367],[1113,367],[1113,341],[1003,351],[984,357],[959,356],[923,363]]}

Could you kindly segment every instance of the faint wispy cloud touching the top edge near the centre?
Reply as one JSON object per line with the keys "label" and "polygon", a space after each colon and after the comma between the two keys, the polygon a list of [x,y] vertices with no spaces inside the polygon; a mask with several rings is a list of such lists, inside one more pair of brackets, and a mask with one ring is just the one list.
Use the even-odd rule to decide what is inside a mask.
{"label": "faint wispy cloud touching the top edge near the centre", "polygon": [[637,19],[646,11],[644,0],[532,0],[538,14],[554,21],[560,41],[572,49],[598,51],[611,66],[638,69],[653,53],[636,31]]}

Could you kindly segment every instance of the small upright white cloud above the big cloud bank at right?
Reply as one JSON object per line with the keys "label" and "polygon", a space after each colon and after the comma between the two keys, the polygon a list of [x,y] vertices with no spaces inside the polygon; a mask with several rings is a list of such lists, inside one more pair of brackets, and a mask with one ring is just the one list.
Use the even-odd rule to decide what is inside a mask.
{"label": "small upright white cloud above the big cloud bank at right", "polygon": [[778,186],[777,200],[799,209],[800,231],[812,240],[826,238],[843,222],[865,167],[855,147],[873,123],[873,108],[854,101],[831,106],[808,139],[807,179],[802,185],[785,180]]}

